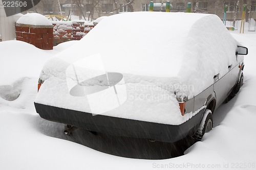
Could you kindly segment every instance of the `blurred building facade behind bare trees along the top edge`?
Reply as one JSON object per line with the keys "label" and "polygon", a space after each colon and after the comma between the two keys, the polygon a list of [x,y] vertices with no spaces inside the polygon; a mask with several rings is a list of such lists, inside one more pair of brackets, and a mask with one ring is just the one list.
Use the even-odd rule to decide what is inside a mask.
{"label": "blurred building facade behind bare trees along the top edge", "polygon": [[[35,7],[43,15],[76,15],[86,20],[100,16],[110,16],[122,12],[148,11],[152,0],[41,0]],[[165,3],[153,0],[154,3]],[[239,6],[237,3],[239,2]],[[185,12],[187,3],[191,3],[191,12],[216,14],[223,18],[224,7],[227,5],[227,20],[234,19],[238,7],[238,18],[241,19],[243,5],[246,4],[246,20],[256,19],[256,0],[170,0],[171,12]],[[29,12],[34,12],[30,9]]]}

